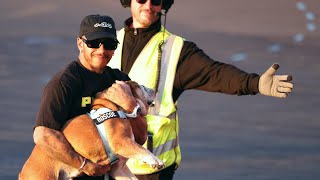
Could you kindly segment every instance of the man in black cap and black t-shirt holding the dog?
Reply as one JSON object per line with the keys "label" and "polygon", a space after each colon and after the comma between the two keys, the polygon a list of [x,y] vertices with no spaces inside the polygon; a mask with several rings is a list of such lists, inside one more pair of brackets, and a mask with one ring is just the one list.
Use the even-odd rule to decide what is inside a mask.
{"label": "man in black cap and black t-shirt holding the dog", "polygon": [[[86,160],[73,150],[61,129],[69,119],[90,111],[92,97],[97,92],[110,87],[116,80],[130,80],[126,74],[106,66],[117,44],[112,18],[86,16],[77,38],[79,59],[57,73],[43,91],[34,129],[34,142],[52,158],[78,168],[89,176],[99,176],[79,179],[103,179],[102,175],[110,169],[109,162],[97,164]],[[124,83],[119,86],[123,86],[125,91]],[[123,104],[128,112],[136,106],[130,95],[119,92],[118,96],[119,99],[129,97],[126,104]]]}

